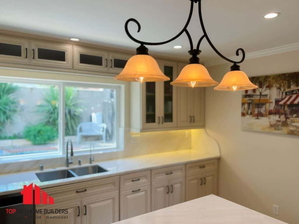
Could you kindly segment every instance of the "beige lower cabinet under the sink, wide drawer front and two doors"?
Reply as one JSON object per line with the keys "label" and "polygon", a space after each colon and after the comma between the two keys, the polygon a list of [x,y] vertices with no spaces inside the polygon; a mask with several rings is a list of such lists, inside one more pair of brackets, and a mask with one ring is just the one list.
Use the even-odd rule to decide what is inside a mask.
{"label": "beige lower cabinet under the sink, wide drawer front and two doors", "polygon": [[119,220],[119,177],[42,190],[54,198],[54,205],[36,205],[36,209],[61,208],[68,213],[36,215],[36,224],[110,224]]}

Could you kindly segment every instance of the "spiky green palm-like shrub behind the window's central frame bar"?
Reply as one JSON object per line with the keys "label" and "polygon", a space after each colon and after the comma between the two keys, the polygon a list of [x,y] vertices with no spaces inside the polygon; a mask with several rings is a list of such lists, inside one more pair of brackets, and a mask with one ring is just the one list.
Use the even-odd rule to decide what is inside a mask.
{"label": "spiky green palm-like shrub behind the window's central frame bar", "polygon": [[[44,114],[44,124],[58,128],[59,91],[50,88],[44,93],[43,103],[38,105],[38,112]],[[83,109],[73,87],[65,87],[65,135],[75,135]]]}

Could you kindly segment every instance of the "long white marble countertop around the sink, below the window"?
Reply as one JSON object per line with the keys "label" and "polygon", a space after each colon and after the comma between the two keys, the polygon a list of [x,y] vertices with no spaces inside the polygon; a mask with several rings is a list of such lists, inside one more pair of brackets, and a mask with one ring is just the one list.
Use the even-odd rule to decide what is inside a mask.
{"label": "long white marble countertop around the sink, below the window", "polygon": [[[31,183],[33,183],[33,185],[38,185],[40,188],[48,188],[93,179],[100,179],[104,177],[118,176],[120,174],[127,174],[130,172],[142,171],[152,168],[161,168],[169,165],[179,165],[189,162],[198,162],[216,158],[220,158],[220,154],[207,154],[207,152],[201,152],[197,150],[181,150],[166,153],[149,154],[123,159],[94,162],[93,165],[100,165],[108,171],[98,174],[90,174],[80,177],[71,177],[46,182],[40,182],[39,179],[36,177],[35,173],[40,172],[38,170],[2,174],[0,175],[0,195],[20,192],[23,190],[23,185],[29,185]],[[83,164],[82,166],[89,166],[89,164]],[[70,165],[69,168],[76,167],[78,166]],[[66,168],[57,167],[55,169],[45,169],[42,172],[53,171],[58,169]]]}

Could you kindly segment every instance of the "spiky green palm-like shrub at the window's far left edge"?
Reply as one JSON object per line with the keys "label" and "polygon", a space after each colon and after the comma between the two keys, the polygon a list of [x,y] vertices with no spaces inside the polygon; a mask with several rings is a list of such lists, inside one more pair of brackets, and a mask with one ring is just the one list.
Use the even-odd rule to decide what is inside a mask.
{"label": "spiky green palm-like shrub at the window's far left edge", "polygon": [[18,87],[11,83],[0,83],[0,133],[3,132],[7,122],[13,120],[13,116],[18,111],[18,101],[13,97],[13,93]]}

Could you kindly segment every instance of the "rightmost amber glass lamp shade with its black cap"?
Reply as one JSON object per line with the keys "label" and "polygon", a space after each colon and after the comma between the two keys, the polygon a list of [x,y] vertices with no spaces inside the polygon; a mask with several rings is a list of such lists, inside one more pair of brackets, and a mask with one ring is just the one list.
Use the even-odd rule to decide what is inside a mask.
{"label": "rightmost amber glass lamp shade with its black cap", "polygon": [[[254,85],[245,72],[239,70],[239,65],[231,66],[231,71],[225,74],[222,81],[214,90],[222,91],[237,91],[237,90],[250,90],[256,89],[257,85]],[[235,70],[237,69],[237,70]]]}

